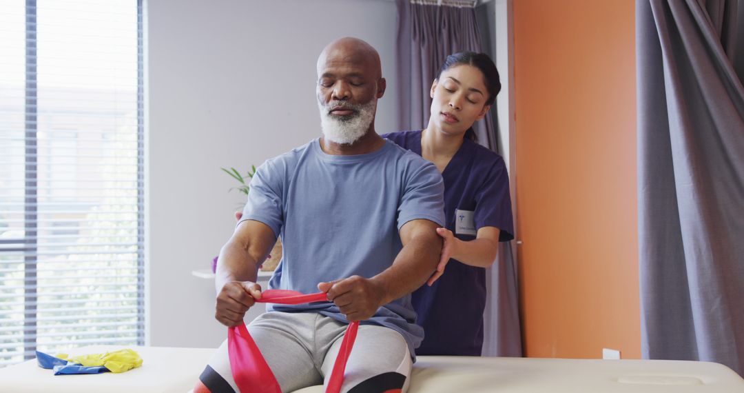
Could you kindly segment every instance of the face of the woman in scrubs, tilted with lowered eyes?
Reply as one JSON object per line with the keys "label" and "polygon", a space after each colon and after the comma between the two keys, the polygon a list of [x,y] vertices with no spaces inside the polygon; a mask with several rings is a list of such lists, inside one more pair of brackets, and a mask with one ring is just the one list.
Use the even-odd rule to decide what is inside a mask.
{"label": "face of the woman in scrubs, tilted with lowered eyes", "polygon": [[430,122],[448,134],[464,134],[475,121],[481,120],[490,106],[481,70],[472,65],[455,65],[443,71],[432,83],[432,117]]}

